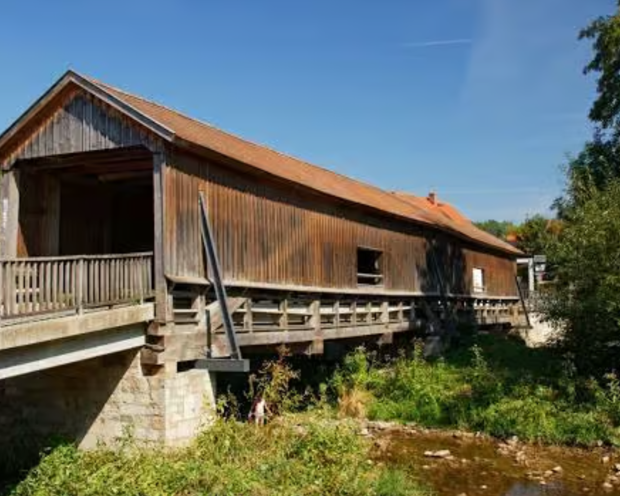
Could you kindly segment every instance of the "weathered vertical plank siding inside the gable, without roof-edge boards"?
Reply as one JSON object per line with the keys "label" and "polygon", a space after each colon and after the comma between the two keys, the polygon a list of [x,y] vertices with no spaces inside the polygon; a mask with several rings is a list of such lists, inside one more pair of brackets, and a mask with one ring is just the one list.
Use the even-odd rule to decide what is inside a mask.
{"label": "weathered vertical plank siding inside the gable, without roof-edge boards", "polygon": [[18,159],[142,145],[163,151],[161,139],[77,87],[67,88],[12,140],[0,164]]}

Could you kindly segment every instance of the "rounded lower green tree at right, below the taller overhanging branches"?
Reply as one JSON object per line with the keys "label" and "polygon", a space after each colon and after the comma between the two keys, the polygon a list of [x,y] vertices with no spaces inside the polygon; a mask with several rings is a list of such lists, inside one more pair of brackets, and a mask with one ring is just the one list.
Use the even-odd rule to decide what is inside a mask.
{"label": "rounded lower green tree at right, below the taller overhanging branches", "polygon": [[557,291],[547,316],[582,371],[618,365],[620,342],[620,180],[573,211],[549,246]]}

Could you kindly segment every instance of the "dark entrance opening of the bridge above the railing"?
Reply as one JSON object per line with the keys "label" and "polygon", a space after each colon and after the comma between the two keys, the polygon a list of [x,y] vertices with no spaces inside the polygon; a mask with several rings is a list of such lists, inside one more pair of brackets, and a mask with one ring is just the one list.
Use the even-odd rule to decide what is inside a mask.
{"label": "dark entrance opening of the bridge above the railing", "polygon": [[16,166],[18,256],[153,250],[153,156],[148,150],[49,156]]}

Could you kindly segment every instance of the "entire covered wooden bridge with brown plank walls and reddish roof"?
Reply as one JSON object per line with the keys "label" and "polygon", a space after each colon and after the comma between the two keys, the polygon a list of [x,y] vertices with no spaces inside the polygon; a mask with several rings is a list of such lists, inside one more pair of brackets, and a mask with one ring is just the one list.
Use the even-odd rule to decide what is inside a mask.
{"label": "entire covered wooden bridge with brown plank walls and reddish roof", "polygon": [[[0,165],[0,379],[121,353],[140,391],[182,390],[280,343],[321,353],[518,309],[518,250],[435,195],[72,71],[0,136]],[[200,414],[183,415],[155,430],[183,438]]]}

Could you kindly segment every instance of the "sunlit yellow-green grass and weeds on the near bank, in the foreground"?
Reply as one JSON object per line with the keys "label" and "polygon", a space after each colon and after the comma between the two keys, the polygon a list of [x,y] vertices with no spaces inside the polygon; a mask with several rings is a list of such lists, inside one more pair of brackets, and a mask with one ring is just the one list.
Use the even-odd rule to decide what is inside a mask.
{"label": "sunlit yellow-green grass and weeds on the near bank, in the foreground", "polygon": [[53,449],[14,496],[410,495],[404,472],[368,460],[368,443],[347,423],[284,418],[265,428],[218,420],[178,450]]}

